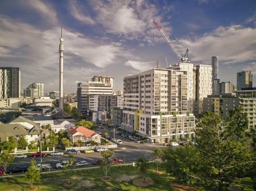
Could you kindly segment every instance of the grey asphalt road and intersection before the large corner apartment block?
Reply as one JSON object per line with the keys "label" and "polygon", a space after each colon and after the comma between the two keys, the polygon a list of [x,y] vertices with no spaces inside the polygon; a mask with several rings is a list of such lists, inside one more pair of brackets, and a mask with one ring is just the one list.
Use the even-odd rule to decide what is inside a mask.
{"label": "grey asphalt road and intersection before the large corner apartment block", "polygon": [[[110,130],[101,129],[101,128],[97,128],[97,130],[101,131],[102,133],[108,132],[108,134],[113,137],[113,130],[110,131]],[[120,147],[118,147],[117,149],[113,150],[114,155],[112,156],[112,158],[114,157],[122,158],[124,162],[136,161],[140,156],[145,156],[146,158],[151,159],[152,152],[154,149],[156,149],[156,147],[161,147],[163,149],[166,148],[166,146],[163,146],[162,144],[137,143],[130,139],[126,139],[120,135],[117,135],[116,134],[117,132],[118,131],[115,130],[115,138],[121,139],[122,144],[120,145],[121,149]],[[102,156],[100,155],[100,152],[83,153],[83,151],[81,151],[80,154],[73,154],[73,155],[77,161],[86,160],[89,163],[89,165],[92,165],[94,160],[98,158],[102,158]],[[17,158],[14,160],[13,164],[8,167],[8,169],[15,166],[29,166],[29,163],[33,158],[34,157],[31,157],[30,155],[28,155],[27,158]],[[34,159],[36,159],[37,163],[40,163],[40,160],[41,160],[40,157],[35,157]],[[64,155],[61,155],[61,156],[51,156],[50,154],[48,154],[47,156],[42,157],[42,163],[43,164],[50,163],[52,168],[55,168],[56,163],[59,163],[62,160],[68,160],[68,154],[65,154],[65,152],[64,152]]]}

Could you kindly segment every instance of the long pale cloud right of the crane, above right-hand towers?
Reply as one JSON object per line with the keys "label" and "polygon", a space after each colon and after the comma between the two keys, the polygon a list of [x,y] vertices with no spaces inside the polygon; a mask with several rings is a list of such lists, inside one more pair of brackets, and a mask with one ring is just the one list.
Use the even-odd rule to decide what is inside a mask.
{"label": "long pale cloud right of the crane, above right-hand towers", "polygon": [[[179,39],[189,48],[192,62],[210,63],[211,56],[218,55],[222,63],[244,62],[255,59],[256,28],[241,25],[220,26],[201,37]],[[179,49],[184,49],[177,44]]]}

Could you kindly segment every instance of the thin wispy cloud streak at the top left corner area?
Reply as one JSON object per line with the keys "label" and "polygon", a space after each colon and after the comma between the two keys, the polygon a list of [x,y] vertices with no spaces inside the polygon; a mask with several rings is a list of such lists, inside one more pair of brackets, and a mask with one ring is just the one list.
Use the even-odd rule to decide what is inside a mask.
{"label": "thin wispy cloud streak at the top left corner area", "polygon": [[47,21],[51,22],[52,24],[55,25],[58,23],[56,11],[52,8],[50,4],[42,2],[41,0],[26,0],[20,2],[41,13],[45,18],[47,18]]}

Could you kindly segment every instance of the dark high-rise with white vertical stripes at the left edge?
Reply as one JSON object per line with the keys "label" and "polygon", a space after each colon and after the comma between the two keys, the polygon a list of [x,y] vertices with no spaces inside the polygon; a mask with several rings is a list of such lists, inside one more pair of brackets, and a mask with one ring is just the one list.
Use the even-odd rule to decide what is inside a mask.
{"label": "dark high-rise with white vertical stripes at the left edge", "polygon": [[19,67],[0,67],[0,98],[21,96],[21,71]]}

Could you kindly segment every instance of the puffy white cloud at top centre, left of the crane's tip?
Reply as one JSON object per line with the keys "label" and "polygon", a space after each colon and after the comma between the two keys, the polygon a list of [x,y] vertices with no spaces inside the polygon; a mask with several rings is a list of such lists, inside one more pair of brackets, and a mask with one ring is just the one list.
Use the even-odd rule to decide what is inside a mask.
{"label": "puffy white cloud at top centre, left of the crane's tip", "polygon": [[[111,0],[93,1],[92,7],[97,13],[97,22],[101,23],[108,33],[122,36],[125,39],[136,39],[152,43],[153,20],[156,19],[167,32],[171,28],[168,22],[161,22],[162,16],[154,4],[144,0]],[[156,36],[160,36],[156,32]]]}

